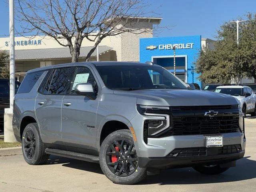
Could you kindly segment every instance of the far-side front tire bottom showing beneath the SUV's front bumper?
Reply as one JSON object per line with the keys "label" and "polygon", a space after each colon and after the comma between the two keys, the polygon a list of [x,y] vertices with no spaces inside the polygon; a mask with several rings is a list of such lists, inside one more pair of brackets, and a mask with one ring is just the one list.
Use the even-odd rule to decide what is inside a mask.
{"label": "far-side front tire bottom showing beneath the SUV's front bumper", "polygon": [[225,172],[229,168],[221,168],[220,165],[212,165],[212,166],[194,166],[194,170],[200,172],[205,175],[217,175]]}

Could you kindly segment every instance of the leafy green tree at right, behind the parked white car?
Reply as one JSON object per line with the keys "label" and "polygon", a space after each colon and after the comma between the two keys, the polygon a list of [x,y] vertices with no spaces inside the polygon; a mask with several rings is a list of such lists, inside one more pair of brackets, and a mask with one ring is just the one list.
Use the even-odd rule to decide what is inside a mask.
{"label": "leafy green tree at right, behind the parked white car", "polygon": [[238,83],[240,78],[256,78],[256,14],[247,14],[246,20],[240,23],[239,45],[236,24],[225,22],[217,30],[214,50],[200,51],[195,70],[202,82],[225,83],[232,79]]}

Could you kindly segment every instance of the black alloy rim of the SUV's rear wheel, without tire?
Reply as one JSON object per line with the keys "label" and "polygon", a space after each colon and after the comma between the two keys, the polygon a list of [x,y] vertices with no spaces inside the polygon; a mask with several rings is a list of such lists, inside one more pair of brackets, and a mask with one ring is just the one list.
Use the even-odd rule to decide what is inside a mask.
{"label": "black alloy rim of the SUV's rear wheel, without tire", "polygon": [[24,151],[29,159],[34,157],[36,151],[36,138],[32,130],[28,130],[24,136]]}

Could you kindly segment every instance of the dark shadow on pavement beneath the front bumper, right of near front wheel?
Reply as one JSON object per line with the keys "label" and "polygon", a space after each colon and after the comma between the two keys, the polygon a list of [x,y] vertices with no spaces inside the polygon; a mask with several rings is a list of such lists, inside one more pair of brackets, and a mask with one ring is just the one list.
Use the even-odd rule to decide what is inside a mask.
{"label": "dark shadow on pavement beneath the front bumper, right of near front wheel", "polygon": [[243,181],[256,178],[256,161],[244,157],[237,161],[236,167],[230,168],[219,175],[204,175],[193,168],[170,169],[160,175],[148,176],[140,184],[210,184]]}

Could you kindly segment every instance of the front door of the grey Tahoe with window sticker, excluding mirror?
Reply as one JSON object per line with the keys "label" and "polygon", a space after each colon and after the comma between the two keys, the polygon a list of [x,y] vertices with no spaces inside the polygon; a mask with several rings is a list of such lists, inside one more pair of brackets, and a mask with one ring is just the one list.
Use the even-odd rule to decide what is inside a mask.
{"label": "front door of the grey Tahoe with window sticker, excluding mirror", "polygon": [[[66,146],[96,150],[96,112],[100,99],[98,83],[89,67],[79,66],[73,78],[70,94],[62,102],[62,139]],[[97,92],[95,98],[77,95],[76,84],[90,82]]]}

